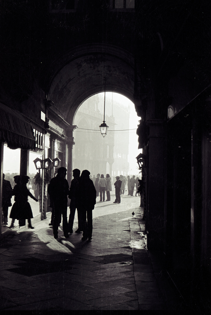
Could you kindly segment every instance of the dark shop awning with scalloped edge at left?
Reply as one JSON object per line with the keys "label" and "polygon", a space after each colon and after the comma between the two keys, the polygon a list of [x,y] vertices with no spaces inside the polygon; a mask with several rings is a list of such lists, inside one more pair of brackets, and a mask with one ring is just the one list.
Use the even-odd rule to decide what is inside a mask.
{"label": "dark shop awning with scalloped edge at left", "polygon": [[32,150],[36,143],[32,126],[20,116],[7,106],[0,105],[0,140],[7,142],[10,149]]}

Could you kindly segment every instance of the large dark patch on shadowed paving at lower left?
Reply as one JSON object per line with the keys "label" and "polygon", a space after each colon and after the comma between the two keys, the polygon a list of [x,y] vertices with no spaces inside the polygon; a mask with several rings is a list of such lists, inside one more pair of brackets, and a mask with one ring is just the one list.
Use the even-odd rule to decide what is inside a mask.
{"label": "large dark patch on shadowed paving at lower left", "polygon": [[27,277],[32,277],[46,273],[63,272],[73,269],[73,266],[71,266],[73,262],[69,260],[53,262],[44,261],[43,259],[38,258],[25,258],[21,260],[25,262],[15,264],[19,267],[8,269],[8,271],[12,271]]}

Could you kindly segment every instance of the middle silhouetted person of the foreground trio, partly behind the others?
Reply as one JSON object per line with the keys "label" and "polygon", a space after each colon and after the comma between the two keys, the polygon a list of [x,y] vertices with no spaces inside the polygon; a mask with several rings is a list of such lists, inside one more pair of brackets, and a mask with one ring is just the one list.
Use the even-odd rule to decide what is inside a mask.
{"label": "middle silhouetted person of the foreground trio, partly behind the others", "polygon": [[75,217],[75,210],[77,208],[78,213],[78,229],[75,231],[75,233],[82,232],[82,223],[81,223],[81,211],[79,209],[78,205],[78,189],[79,189],[79,180],[80,180],[80,170],[79,169],[73,169],[73,180],[70,184],[70,191],[68,197],[70,200],[70,215],[69,215],[69,221],[68,221],[68,232],[70,234],[73,233],[73,221]]}

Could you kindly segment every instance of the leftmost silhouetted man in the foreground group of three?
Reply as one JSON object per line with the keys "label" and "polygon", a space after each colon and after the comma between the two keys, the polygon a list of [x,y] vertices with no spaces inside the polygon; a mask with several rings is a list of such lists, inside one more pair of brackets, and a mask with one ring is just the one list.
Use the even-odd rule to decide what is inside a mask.
{"label": "leftmost silhouetted man in the foreground group of three", "polygon": [[48,185],[48,193],[53,201],[54,221],[53,233],[54,238],[58,238],[59,219],[62,215],[62,228],[65,238],[68,238],[68,223],[67,223],[67,195],[69,194],[69,184],[65,176],[67,169],[65,167],[58,168],[56,177],[50,180]]}

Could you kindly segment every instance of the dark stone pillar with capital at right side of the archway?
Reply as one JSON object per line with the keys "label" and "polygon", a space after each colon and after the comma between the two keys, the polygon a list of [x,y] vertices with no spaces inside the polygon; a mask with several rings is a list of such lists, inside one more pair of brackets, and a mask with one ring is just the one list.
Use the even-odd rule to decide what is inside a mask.
{"label": "dark stone pillar with capital at right side of the archway", "polygon": [[146,230],[149,249],[162,249],[164,244],[165,189],[165,121],[151,119],[147,160]]}

